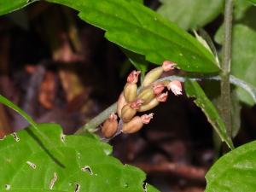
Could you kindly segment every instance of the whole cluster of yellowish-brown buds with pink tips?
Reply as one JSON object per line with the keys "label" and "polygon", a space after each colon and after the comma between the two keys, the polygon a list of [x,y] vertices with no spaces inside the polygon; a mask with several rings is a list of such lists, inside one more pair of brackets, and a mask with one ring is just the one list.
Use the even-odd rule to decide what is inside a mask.
{"label": "whole cluster of yellowish-brown buds with pink tips", "polygon": [[[171,90],[175,96],[182,94],[182,84],[178,80],[159,81],[162,73],[173,70],[176,65],[172,61],[164,61],[161,67],[155,67],[145,75],[140,89],[137,87],[140,72],[133,71],[129,74],[117,102],[117,113],[123,122],[122,132],[134,133],[141,130],[144,124],[148,124],[154,113],[137,116],[137,112],[146,112],[160,102],[166,102],[168,91],[164,90]],[[117,119],[117,115],[112,113],[103,123],[104,137],[113,137],[118,131]]]}

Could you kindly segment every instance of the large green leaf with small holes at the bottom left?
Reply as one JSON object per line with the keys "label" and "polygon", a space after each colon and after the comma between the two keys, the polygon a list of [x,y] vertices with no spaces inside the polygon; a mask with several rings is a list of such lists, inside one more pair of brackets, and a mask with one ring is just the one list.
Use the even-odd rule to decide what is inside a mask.
{"label": "large green leaf with small holes at the bottom left", "polygon": [[[0,141],[0,191],[143,191],[144,172],[109,156],[112,148],[108,144],[93,137],[65,136],[60,125],[38,127],[54,143],[47,148],[49,153],[55,157],[59,149],[65,154],[57,159],[61,166],[30,137],[31,127],[9,135]],[[40,137],[37,133],[35,136]]]}

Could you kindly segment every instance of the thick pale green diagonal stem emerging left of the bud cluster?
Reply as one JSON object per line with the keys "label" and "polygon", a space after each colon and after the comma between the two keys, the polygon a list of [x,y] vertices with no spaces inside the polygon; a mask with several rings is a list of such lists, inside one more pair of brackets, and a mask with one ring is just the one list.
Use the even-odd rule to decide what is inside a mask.
{"label": "thick pale green diagonal stem emerging left of the bud cluster", "polygon": [[96,127],[101,125],[105,119],[108,119],[111,113],[115,113],[117,108],[117,103],[113,103],[111,106],[106,108],[102,113],[99,113],[95,118],[91,119],[87,124],[81,127],[75,132],[76,135],[83,135],[86,132],[93,132]]}

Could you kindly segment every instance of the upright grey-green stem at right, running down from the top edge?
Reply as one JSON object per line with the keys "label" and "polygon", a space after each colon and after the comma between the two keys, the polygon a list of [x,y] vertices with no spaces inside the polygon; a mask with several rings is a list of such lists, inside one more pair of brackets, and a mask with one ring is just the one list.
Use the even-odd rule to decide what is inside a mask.
{"label": "upright grey-green stem at right, running down from the top edge", "polygon": [[231,94],[230,94],[230,66],[231,66],[231,42],[232,42],[232,15],[233,0],[225,1],[224,11],[224,48],[221,73],[221,113],[226,126],[227,134],[232,136],[231,122]]}

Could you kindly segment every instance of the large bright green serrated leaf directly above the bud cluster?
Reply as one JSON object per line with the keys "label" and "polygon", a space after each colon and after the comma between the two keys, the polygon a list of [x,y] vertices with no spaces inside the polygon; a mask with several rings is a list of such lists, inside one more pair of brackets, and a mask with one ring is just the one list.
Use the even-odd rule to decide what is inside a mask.
{"label": "large bright green serrated leaf directly above the bud cluster", "polygon": [[[79,16],[106,30],[106,38],[146,60],[160,64],[170,60],[185,71],[214,73],[214,55],[189,33],[137,2],[126,0],[49,0],[79,10]],[[119,10],[118,12],[116,10]]]}

